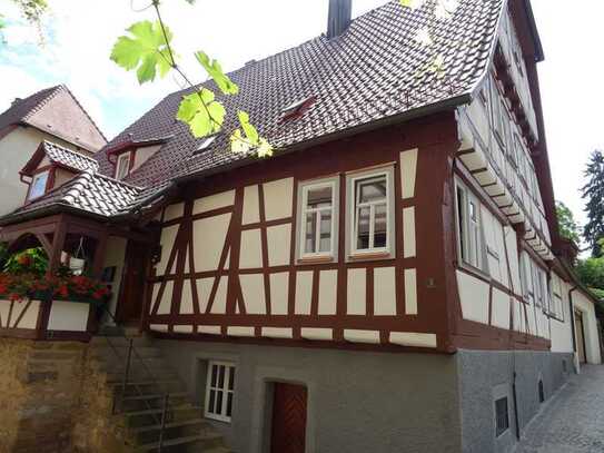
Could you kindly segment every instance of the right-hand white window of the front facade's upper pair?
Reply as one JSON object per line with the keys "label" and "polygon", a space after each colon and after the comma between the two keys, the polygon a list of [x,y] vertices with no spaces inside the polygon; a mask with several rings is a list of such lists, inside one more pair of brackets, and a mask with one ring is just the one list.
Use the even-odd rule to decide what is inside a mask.
{"label": "right-hand white window of the front facade's upper pair", "polygon": [[394,242],[390,171],[349,178],[351,255],[389,253]]}

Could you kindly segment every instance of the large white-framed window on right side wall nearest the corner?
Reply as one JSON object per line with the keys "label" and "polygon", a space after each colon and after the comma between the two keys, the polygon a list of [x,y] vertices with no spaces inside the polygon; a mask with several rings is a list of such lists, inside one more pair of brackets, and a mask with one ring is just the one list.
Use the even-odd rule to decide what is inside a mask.
{"label": "large white-framed window on right side wall nearest the corner", "polygon": [[456,188],[457,238],[462,262],[486,272],[481,203],[461,181],[457,181]]}

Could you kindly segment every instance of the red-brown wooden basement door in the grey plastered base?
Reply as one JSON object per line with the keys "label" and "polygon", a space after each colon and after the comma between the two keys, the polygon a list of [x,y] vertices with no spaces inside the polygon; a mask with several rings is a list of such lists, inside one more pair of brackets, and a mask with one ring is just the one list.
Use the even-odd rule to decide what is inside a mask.
{"label": "red-brown wooden basement door in the grey plastered base", "polygon": [[305,453],[306,387],[275,384],[271,453]]}

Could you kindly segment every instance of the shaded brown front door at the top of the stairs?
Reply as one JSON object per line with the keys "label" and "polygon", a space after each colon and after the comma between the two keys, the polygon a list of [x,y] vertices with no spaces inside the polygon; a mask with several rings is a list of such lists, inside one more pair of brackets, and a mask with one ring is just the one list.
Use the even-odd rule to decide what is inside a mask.
{"label": "shaded brown front door at the top of the stairs", "polygon": [[126,259],[120,286],[120,298],[117,319],[120,323],[140,321],[142,314],[145,270],[148,257],[148,245],[128,242]]}

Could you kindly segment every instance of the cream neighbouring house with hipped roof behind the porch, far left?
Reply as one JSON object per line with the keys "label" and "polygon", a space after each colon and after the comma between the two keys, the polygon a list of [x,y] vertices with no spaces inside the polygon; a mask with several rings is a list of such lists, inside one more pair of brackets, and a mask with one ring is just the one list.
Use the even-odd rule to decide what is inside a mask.
{"label": "cream neighbouring house with hipped roof behind the porch, far left", "polygon": [[31,183],[33,194],[39,196],[53,187],[53,178],[55,185],[63,181],[67,175],[60,175],[61,171],[42,170],[34,179],[22,171],[44,140],[85,157],[107,144],[100,129],[63,85],[14,99],[10,108],[0,114],[0,214],[30,201],[28,186]]}

